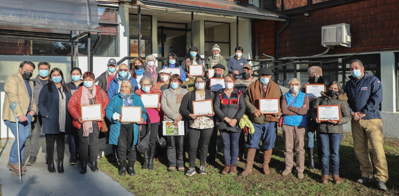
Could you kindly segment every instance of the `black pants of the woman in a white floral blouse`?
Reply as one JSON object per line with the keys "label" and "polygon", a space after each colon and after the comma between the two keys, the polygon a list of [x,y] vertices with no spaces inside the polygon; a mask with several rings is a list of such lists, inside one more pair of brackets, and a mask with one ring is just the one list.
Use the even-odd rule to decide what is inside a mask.
{"label": "black pants of the woman in a white floral blouse", "polygon": [[213,128],[210,129],[193,129],[188,130],[188,163],[190,167],[195,167],[197,148],[199,143],[199,165],[205,165],[206,156],[208,155],[209,139],[211,138]]}

